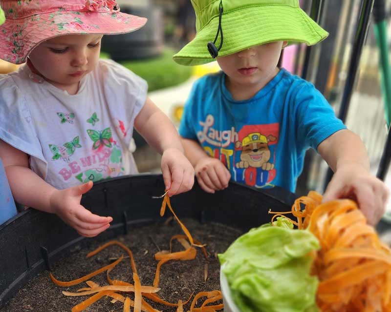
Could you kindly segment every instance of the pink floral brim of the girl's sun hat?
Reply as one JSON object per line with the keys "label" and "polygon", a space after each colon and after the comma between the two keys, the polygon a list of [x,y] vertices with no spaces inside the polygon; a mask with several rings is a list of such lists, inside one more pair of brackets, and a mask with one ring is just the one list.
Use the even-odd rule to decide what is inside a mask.
{"label": "pink floral brim of the girl's sun hat", "polygon": [[146,18],[121,12],[58,11],[25,19],[6,19],[0,26],[0,59],[24,63],[41,42],[64,35],[117,35],[136,31]]}

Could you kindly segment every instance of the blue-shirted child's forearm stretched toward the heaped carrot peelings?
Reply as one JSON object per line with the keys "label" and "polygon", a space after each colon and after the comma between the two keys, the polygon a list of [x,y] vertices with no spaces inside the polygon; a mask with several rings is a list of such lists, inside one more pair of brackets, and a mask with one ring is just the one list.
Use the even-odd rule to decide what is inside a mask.
{"label": "blue-shirted child's forearm stretched toward the heaped carrot peelings", "polygon": [[369,171],[369,158],[360,137],[349,130],[340,130],[318,146],[318,152],[336,172],[342,166],[360,165]]}

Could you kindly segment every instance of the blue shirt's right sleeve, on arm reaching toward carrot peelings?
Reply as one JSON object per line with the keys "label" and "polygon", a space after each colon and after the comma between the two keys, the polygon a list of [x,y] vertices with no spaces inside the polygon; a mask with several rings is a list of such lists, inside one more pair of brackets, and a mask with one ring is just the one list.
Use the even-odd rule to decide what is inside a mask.
{"label": "blue shirt's right sleeve, on arm reaching toward carrot peelings", "polygon": [[300,85],[295,98],[295,124],[300,148],[318,145],[335,132],[346,129],[326,98],[309,82]]}

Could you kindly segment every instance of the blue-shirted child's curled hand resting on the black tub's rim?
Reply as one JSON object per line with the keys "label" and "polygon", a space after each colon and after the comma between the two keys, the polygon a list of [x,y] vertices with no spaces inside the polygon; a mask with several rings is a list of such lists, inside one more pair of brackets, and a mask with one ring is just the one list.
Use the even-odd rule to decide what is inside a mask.
{"label": "blue-shirted child's curled hand resting on the black tub's rim", "polygon": [[194,169],[198,184],[205,192],[214,194],[228,187],[231,174],[217,158],[203,157]]}

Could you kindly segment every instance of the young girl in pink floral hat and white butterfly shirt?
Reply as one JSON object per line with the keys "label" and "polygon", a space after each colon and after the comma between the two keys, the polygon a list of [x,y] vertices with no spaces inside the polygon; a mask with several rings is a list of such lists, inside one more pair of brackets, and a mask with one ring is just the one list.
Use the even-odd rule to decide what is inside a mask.
{"label": "young girl in pink floral hat and white butterfly shirt", "polygon": [[0,157],[17,202],[57,214],[84,236],[106,230],[112,218],[80,199],[94,181],[137,172],[133,126],[162,153],[169,195],[192,188],[193,167],[146,82],[99,59],[103,34],[135,31],[146,19],[120,13],[115,0],[0,4],[0,58],[26,62],[0,75]]}

